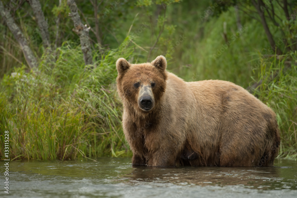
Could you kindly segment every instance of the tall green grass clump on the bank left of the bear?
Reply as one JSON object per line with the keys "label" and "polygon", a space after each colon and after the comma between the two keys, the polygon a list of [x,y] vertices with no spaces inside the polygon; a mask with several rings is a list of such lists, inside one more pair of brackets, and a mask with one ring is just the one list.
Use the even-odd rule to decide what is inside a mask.
{"label": "tall green grass clump on the bank left of the bear", "polygon": [[[10,131],[12,158],[129,155],[116,97],[115,62],[130,56],[129,45],[125,50],[95,52],[96,67],[87,69],[80,47],[72,48],[65,42],[56,63],[40,65],[30,73],[25,67],[16,68],[5,75],[0,121],[1,129]],[[2,136],[0,144],[4,144]]]}

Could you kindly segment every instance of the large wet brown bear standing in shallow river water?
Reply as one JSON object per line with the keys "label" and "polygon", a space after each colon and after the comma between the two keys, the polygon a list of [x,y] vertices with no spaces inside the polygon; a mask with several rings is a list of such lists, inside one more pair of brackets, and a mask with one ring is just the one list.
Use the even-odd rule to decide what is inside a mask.
{"label": "large wet brown bear standing in shallow river water", "polygon": [[166,59],[116,62],[123,130],[132,164],[272,166],[280,143],[275,113],[221,80],[185,82]]}

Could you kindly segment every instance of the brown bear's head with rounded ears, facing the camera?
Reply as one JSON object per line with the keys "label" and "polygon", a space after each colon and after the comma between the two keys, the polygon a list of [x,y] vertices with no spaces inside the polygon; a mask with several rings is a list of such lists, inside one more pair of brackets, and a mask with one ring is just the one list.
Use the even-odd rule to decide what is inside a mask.
{"label": "brown bear's head with rounded ears, facing the camera", "polygon": [[165,91],[166,65],[164,56],[143,64],[130,64],[126,59],[119,58],[116,61],[116,82],[123,104],[129,104],[140,113],[153,110]]}

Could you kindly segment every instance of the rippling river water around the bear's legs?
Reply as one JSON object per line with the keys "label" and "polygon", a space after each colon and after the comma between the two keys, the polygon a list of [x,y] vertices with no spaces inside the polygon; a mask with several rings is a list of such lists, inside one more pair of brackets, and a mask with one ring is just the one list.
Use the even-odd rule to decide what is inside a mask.
{"label": "rippling river water around the bear's legs", "polygon": [[[4,164],[4,161],[2,161]],[[132,167],[130,158],[12,161],[0,197],[297,197],[297,161],[274,167]]]}

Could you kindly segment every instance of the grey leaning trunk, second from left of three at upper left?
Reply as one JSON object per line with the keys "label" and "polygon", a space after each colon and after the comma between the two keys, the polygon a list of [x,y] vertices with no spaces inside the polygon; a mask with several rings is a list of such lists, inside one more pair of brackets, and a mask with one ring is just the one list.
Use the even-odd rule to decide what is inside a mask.
{"label": "grey leaning trunk, second from left of three at upper left", "polygon": [[48,22],[45,20],[40,2],[39,0],[29,0],[29,3],[33,9],[33,12],[40,30],[43,46],[45,48],[50,47],[50,34],[48,32]]}

